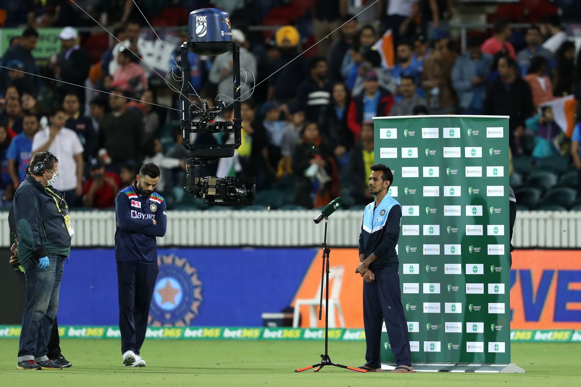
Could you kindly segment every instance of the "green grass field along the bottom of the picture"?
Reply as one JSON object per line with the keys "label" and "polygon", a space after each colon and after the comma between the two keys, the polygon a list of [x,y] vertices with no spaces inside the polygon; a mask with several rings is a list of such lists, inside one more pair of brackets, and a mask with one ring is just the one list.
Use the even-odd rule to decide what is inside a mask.
{"label": "green grass field along the bottom of the picture", "polygon": [[[0,339],[0,385],[12,386],[361,386],[381,382],[429,387],[474,383],[478,386],[572,386],[581,381],[578,343],[514,343],[512,361],[525,374],[356,374],[336,367],[293,372],[317,363],[320,341],[146,341],[145,368],[124,368],[119,341],[63,339],[72,368],[17,371],[15,339]],[[329,344],[331,360],[349,366],[364,363],[365,344]]]}

